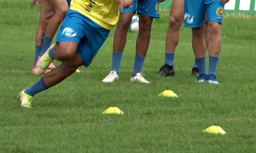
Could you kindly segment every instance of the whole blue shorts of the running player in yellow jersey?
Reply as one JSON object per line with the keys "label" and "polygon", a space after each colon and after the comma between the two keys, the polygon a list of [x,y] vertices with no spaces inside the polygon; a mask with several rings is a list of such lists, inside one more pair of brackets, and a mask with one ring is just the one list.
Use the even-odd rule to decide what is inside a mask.
{"label": "whole blue shorts of the running player in yellow jersey", "polygon": [[85,15],[69,10],[57,34],[56,43],[74,41],[85,67],[88,67],[109,35],[109,30],[99,26]]}

